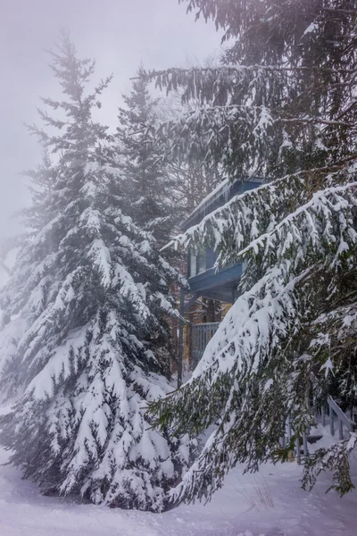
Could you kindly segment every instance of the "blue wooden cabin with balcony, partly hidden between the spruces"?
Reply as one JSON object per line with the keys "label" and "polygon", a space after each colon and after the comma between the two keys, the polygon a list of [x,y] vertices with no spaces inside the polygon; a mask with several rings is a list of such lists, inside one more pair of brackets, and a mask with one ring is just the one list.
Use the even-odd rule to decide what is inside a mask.
{"label": "blue wooden cabin with balcony, partly hidden between the spruces", "polygon": [[[202,222],[207,214],[211,214],[220,206],[226,205],[233,197],[243,194],[247,190],[258,188],[261,184],[262,180],[259,178],[235,180],[234,182],[224,180],[209,196],[203,199],[187,220],[181,223],[181,230],[185,232],[190,227]],[[180,314],[181,317],[186,316],[187,322],[179,324],[179,386],[182,381],[183,356],[188,354],[190,363],[195,367],[203,356],[204,348],[220,325],[220,322],[195,322],[195,317],[197,317],[195,304],[203,298],[209,298],[218,300],[223,305],[222,309],[224,310],[237,299],[237,286],[244,270],[243,264],[234,264],[217,270],[214,268],[216,259],[217,255],[212,249],[202,249],[198,253],[189,250],[187,253],[187,281],[190,293],[187,296],[185,290],[181,289]],[[192,315],[193,307],[194,314]],[[191,318],[188,318],[190,311]]]}

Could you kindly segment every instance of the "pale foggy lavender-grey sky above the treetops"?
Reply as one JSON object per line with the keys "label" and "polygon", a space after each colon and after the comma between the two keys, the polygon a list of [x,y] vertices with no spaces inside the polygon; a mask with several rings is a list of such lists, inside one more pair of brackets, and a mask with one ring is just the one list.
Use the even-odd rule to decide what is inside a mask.
{"label": "pale foggy lavender-grey sky above the treetops", "polygon": [[178,0],[0,0],[0,238],[18,231],[12,214],[28,202],[19,172],[38,162],[38,148],[22,121],[37,121],[39,96],[56,95],[45,49],[58,29],[70,30],[80,57],[95,58],[95,80],[113,73],[101,121],[114,128],[139,63],[185,66],[220,49],[213,22],[195,22],[186,8]]}

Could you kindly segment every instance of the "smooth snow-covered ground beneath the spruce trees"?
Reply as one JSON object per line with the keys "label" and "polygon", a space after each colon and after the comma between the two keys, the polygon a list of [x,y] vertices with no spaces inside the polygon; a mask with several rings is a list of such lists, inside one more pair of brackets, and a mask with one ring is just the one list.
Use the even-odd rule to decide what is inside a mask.
{"label": "smooth snow-covered ground beneath the spruce trees", "polygon": [[[0,463],[7,454],[0,451]],[[10,465],[0,466],[0,536],[355,536],[357,491],[325,494],[323,475],[309,494],[301,467],[264,465],[262,472],[229,473],[212,502],[180,506],[161,515],[43,497]],[[357,480],[357,463],[353,460]]]}

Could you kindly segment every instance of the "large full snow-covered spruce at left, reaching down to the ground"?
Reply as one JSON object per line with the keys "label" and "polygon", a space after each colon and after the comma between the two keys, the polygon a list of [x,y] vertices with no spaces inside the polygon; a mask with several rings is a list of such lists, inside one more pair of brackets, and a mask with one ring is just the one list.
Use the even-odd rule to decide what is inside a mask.
{"label": "large full snow-covered spruce at left, reaching down to the ground", "polygon": [[32,131],[54,162],[31,173],[32,236],[0,297],[5,322],[27,324],[3,377],[25,389],[0,440],[43,490],[161,511],[188,449],[150,430],[145,406],[171,388],[146,341],[167,336],[176,273],[120,208],[106,128],[92,119],[109,80],[87,92],[94,63],[66,37],[52,55],[64,100],[43,103],[62,116],[40,112],[47,133]]}

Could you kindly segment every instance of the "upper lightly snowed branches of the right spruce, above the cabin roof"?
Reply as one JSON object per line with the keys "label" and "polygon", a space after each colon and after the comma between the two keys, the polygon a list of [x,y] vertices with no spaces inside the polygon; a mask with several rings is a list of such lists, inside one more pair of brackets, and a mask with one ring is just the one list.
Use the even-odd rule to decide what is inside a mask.
{"label": "upper lightly snowed branches of the right spruce, above the cabin roof", "polygon": [[162,127],[170,152],[231,178],[281,177],[355,155],[355,1],[189,2],[237,38],[217,67],[150,72],[199,107]]}

